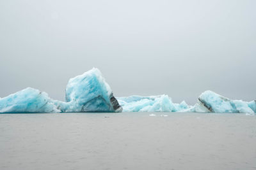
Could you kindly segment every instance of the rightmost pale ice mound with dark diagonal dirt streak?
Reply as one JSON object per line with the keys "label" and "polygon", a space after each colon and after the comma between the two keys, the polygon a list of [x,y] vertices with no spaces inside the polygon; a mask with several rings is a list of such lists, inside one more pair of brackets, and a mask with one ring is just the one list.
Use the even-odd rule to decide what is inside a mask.
{"label": "rightmost pale ice mound with dark diagonal dirt streak", "polygon": [[184,112],[212,113],[255,113],[255,101],[250,103],[241,100],[230,100],[210,90],[198,97],[198,103]]}

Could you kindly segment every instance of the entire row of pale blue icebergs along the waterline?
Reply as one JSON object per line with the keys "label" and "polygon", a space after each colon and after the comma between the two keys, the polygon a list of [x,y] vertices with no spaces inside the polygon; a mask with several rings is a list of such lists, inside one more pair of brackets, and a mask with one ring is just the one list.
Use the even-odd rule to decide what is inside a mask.
{"label": "entire row of pale blue icebergs along the waterline", "polygon": [[114,97],[99,69],[93,68],[71,78],[66,87],[66,101],[51,99],[45,92],[27,89],[0,98],[0,113],[65,112],[199,112],[256,113],[256,101],[231,100],[205,91],[194,106],[185,101],[173,103],[167,95]]}

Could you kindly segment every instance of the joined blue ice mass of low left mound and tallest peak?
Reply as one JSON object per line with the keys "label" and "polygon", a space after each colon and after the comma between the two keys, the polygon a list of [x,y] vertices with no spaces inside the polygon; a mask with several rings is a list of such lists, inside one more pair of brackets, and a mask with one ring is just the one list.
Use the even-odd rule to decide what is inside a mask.
{"label": "joined blue ice mass of low left mound and tallest peak", "polygon": [[51,99],[45,92],[27,88],[0,99],[0,113],[121,112],[99,69],[71,78],[66,102]]}

